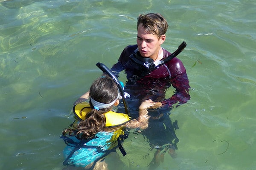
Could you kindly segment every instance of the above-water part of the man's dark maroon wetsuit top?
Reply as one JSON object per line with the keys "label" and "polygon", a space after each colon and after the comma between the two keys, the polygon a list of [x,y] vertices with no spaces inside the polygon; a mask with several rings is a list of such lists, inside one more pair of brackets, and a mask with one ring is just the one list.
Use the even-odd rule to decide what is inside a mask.
{"label": "above-water part of the man's dark maroon wetsuit top", "polygon": [[[190,99],[190,86],[186,69],[180,59],[175,57],[166,64],[152,71],[150,74],[141,77],[140,70],[138,70],[134,62],[129,58],[136,48],[137,45],[127,46],[122,51],[118,62],[111,68],[111,71],[119,73],[120,71],[125,70],[126,77],[128,79],[127,85],[135,85],[133,88],[134,90],[137,89],[137,91],[142,90],[148,92],[145,94],[140,93],[140,95],[144,95],[143,98],[140,99],[145,99],[146,95],[150,95],[150,97],[152,97],[151,94],[157,95],[157,92],[161,93],[160,96],[164,97],[163,95],[166,88],[169,88],[172,85],[176,89],[175,94],[172,97],[169,99],[161,98],[158,100],[153,100],[153,98],[152,100],[154,102],[162,102],[163,105],[168,105],[169,107],[172,107],[172,105],[177,102],[179,102],[179,104],[187,102]],[[163,58],[170,54],[171,53],[169,51],[163,49]],[[146,98],[150,99],[150,97]]]}

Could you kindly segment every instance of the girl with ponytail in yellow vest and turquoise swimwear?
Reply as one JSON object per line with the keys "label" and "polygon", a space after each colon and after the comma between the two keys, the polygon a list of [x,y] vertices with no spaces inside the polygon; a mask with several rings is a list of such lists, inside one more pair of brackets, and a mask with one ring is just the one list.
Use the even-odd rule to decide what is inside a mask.
{"label": "girl with ponytail in yellow vest and turquoise swimwear", "polygon": [[103,74],[93,82],[90,91],[74,103],[73,112],[80,122],[63,130],[62,138],[67,144],[64,165],[107,170],[103,157],[117,146],[123,155],[126,154],[120,143],[125,139],[124,128],[147,128],[147,109],[161,106],[160,102],[146,100],[139,107],[139,117],[130,119],[127,114],[111,111],[119,104],[119,99],[116,82]]}

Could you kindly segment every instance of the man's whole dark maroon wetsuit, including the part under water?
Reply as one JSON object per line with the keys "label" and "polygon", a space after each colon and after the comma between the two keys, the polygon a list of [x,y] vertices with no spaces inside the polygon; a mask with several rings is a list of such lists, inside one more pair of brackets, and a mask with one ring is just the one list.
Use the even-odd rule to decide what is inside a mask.
{"label": "man's whole dark maroon wetsuit, including the part under water", "polygon": [[[130,59],[130,55],[136,49],[137,45],[127,46],[122,51],[118,62],[111,68],[111,71],[117,75],[119,72],[125,70],[128,80],[125,85],[125,92],[131,95],[131,98],[127,98],[127,101],[133,118],[138,116],[136,115],[137,108],[146,99],[152,99],[154,102],[161,102],[163,104],[161,109],[149,112],[151,118],[144,134],[154,145],[170,143],[177,148],[176,143],[178,139],[175,135],[174,128],[176,129],[178,127],[177,123],[173,125],[171,119],[169,119],[169,111],[173,104],[177,102],[183,104],[190,99],[190,86],[186,69],[180,59],[175,57],[150,74],[142,76],[142,71]],[[163,48],[163,59],[170,54],[169,51]],[[165,92],[171,85],[176,89],[175,94],[166,99]],[[176,142],[172,142],[173,139]]]}

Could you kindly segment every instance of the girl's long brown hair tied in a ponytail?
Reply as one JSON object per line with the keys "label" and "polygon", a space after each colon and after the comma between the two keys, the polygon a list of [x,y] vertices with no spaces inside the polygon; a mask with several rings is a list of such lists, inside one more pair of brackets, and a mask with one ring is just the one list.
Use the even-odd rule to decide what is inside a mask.
{"label": "girl's long brown hair tied in a ponytail", "polygon": [[[97,102],[105,104],[113,102],[117,98],[118,93],[116,82],[105,74],[96,79],[90,87],[90,97]],[[80,122],[77,127],[73,129],[64,129],[62,132],[64,136],[68,133],[80,139],[89,139],[103,130],[106,125],[104,113],[111,111],[113,105],[108,108],[96,110],[90,102],[90,107],[92,110],[86,114],[85,120]]]}

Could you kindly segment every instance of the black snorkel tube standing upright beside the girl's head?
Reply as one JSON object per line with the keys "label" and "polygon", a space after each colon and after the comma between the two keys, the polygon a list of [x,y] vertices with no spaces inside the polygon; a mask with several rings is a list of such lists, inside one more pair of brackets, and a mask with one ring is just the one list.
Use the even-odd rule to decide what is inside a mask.
{"label": "black snorkel tube standing upright beside the girl's head", "polygon": [[109,68],[105,64],[98,62],[96,65],[97,65],[97,67],[99,67],[99,69],[101,69],[101,71],[103,71],[103,73],[108,74],[116,82],[117,87],[119,89],[119,92],[122,95],[122,101],[123,101],[124,106],[125,106],[125,113],[130,114],[130,111],[129,111],[129,108],[128,108],[128,103],[125,99],[125,92],[123,90],[121,82],[116,78],[116,76],[109,70]]}

